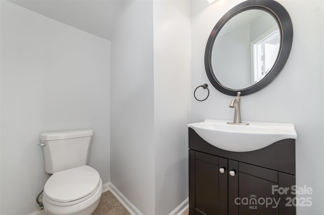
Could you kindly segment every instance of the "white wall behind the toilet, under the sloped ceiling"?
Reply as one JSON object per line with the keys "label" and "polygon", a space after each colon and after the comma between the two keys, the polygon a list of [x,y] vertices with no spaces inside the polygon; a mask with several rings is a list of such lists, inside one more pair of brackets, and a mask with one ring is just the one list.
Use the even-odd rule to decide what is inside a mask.
{"label": "white wall behind the toilet, under the sloped ceiling", "polygon": [[48,175],[39,134],[93,128],[109,170],[110,41],[1,1],[1,214],[28,214]]}

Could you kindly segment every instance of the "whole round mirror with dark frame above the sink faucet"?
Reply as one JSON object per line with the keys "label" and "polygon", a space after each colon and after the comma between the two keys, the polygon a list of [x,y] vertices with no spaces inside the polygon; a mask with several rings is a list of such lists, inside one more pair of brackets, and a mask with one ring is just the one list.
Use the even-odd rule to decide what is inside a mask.
{"label": "whole round mirror with dark frame above the sink faucet", "polygon": [[291,19],[279,3],[243,2],[219,20],[208,39],[207,76],[224,94],[255,93],[282,70],[292,39]]}

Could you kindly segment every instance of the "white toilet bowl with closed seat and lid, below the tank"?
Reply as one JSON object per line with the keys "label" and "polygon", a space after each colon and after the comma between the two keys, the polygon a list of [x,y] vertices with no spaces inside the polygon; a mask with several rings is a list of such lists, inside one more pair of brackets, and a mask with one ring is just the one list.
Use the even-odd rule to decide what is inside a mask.
{"label": "white toilet bowl with closed seat and lid, below the tank", "polygon": [[83,165],[54,173],[45,184],[43,203],[47,214],[90,215],[101,194],[99,173]]}

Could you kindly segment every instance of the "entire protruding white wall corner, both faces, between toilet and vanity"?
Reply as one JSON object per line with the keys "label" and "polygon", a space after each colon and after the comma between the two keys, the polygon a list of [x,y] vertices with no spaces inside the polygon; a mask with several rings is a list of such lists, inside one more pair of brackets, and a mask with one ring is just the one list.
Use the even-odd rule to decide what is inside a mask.
{"label": "entire protruding white wall corner, both faces, between toilet and vanity", "polygon": [[111,42],[111,183],[143,214],[188,197],[190,2],[126,1]]}

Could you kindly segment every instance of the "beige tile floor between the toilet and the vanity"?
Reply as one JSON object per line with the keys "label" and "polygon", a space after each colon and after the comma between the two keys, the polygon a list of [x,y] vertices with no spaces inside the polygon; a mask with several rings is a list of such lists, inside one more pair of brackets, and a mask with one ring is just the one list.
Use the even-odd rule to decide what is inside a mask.
{"label": "beige tile floor between the toilet and the vanity", "polygon": [[[99,205],[92,215],[130,215],[130,213],[110,191],[107,191],[101,195]],[[182,215],[188,215],[188,210]]]}

